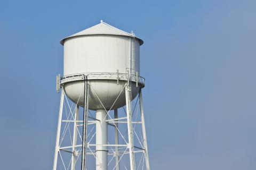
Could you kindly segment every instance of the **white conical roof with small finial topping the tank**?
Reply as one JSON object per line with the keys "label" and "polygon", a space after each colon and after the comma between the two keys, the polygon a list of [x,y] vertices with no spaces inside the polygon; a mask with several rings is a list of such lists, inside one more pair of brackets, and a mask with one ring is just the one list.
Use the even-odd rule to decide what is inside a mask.
{"label": "white conical roof with small finial topping the tank", "polygon": [[[118,35],[118,36],[127,36],[127,37],[134,37],[132,33],[128,33],[122,30],[119,30],[118,28],[115,28],[106,22],[100,21],[99,24],[94,25],[93,27],[87,28],[83,31],[77,32],[74,35],[71,35],[69,37],[63,38],[60,41],[60,44],[63,45],[65,40],[71,37],[78,37],[78,36],[86,36],[86,35]],[[143,40],[140,38],[135,37],[139,40],[140,45],[143,44]]]}

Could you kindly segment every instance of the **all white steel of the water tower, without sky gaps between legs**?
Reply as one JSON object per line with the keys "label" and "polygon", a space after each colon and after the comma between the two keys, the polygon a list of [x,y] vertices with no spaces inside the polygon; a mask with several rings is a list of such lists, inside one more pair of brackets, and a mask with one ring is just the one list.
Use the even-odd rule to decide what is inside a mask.
{"label": "all white steel of the water tower, without sky gaps between legs", "polygon": [[[130,169],[135,170],[135,168],[139,169],[138,163],[135,162],[135,153],[145,154],[142,156],[145,156],[148,170],[147,139],[141,96],[141,88],[145,86],[145,80],[139,76],[140,45],[143,44],[143,41],[135,37],[133,33],[124,32],[101,21],[100,24],[62,39],[60,43],[64,46],[64,77],[61,78],[60,82],[57,82],[57,90],[59,86],[62,89],[53,170],[57,170],[58,154],[64,168],[71,168],[71,170],[75,170],[75,163],[79,156],[82,157],[81,167],[85,170],[88,166],[85,164],[86,155],[95,157],[96,170],[107,170],[108,155],[113,155],[113,158],[115,156],[114,169],[119,170],[119,166],[121,169],[121,166],[123,166],[122,164],[119,165],[120,160],[124,159],[123,155],[129,154]],[[85,89],[87,91],[84,93]],[[134,111],[132,111],[131,101],[138,93],[141,122],[132,120]],[[69,107],[69,113],[74,113],[74,117],[68,118],[67,115],[67,120],[62,120],[63,103],[65,101],[68,103],[68,100],[64,101],[65,94],[76,104],[76,111],[71,111],[72,107]],[[67,99],[66,96],[65,99]],[[84,99],[87,100],[84,101]],[[127,116],[118,117],[117,108],[125,105]],[[78,120],[79,106],[85,106],[83,121]],[[88,117],[88,109],[96,111],[95,118],[92,115]],[[108,114],[108,110],[111,109],[114,109],[114,119]],[[109,120],[108,116],[110,117]],[[88,120],[88,118],[93,121]],[[66,122],[66,125],[63,137],[60,140],[61,122]],[[69,129],[70,122],[74,122],[73,141],[69,146],[62,146],[62,140],[67,129]],[[79,122],[80,124],[78,124]],[[82,122],[83,124],[81,124]],[[118,123],[127,123],[128,141],[125,139],[126,134],[118,129]],[[133,130],[133,124],[137,123],[142,125],[143,141],[139,142],[140,144],[143,143],[141,147],[134,146],[133,143],[133,131],[138,138],[137,133]],[[113,143],[108,143],[108,124],[115,128],[114,145]],[[87,134],[87,125],[95,125],[95,143],[91,141],[94,134],[91,134],[90,139],[88,139],[91,142],[87,141],[87,135],[90,135],[90,132]],[[79,133],[77,126],[83,126],[83,133]],[[82,137],[81,134],[83,134]],[[118,135],[120,135],[121,143],[125,141],[124,145],[119,145]],[[82,145],[77,145],[77,138],[81,138]],[[138,140],[140,141],[140,139]],[[90,147],[95,147],[95,150],[91,150]],[[112,147],[114,149],[111,149]],[[68,165],[66,168],[60,150],[72,154],[71,166]],[[142,164],[144,164],[144,158]],[[124,168],[127,169],[125,165]]]}

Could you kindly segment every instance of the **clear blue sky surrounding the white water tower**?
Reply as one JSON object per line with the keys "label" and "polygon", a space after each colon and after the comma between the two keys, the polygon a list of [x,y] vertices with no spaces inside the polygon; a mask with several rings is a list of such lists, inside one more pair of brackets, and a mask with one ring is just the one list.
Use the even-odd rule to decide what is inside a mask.
{"label": "clear blue sky surrounding the white water tower", "polygon": [[60,39],[135,34],[151,169],[256,169],[256,1],[0,2],[1,169],[51,169]]}

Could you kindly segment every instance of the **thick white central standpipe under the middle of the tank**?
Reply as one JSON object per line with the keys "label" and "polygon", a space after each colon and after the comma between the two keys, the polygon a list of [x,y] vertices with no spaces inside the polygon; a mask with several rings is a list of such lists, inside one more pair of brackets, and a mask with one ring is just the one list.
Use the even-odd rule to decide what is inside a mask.
{"label": "thick white central standpipe under the middle of the tank", "polygon": [[96,111],[96,170],[108,169],[108,124],[105,109]]}

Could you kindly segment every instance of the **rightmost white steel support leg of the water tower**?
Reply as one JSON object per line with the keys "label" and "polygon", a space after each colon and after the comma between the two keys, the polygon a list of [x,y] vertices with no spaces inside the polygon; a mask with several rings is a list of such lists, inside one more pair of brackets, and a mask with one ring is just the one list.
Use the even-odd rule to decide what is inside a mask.
{"label": "rightmost white steel support leg of the water tower", "polygon": [[146,136],[144,109],[143,109],[141,89],[139,91],[139,97],[140,97],[140,114],[141,114],[141,123],[142,123],[143,143],[144,143],[144,149],[145,149],[146,168],[147,168],[147,170],[149,170],[150,168],[149,168],[149,159],[148,159],[148,146],[147,146],[147,136]]}

